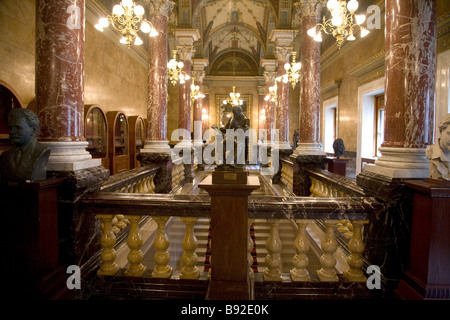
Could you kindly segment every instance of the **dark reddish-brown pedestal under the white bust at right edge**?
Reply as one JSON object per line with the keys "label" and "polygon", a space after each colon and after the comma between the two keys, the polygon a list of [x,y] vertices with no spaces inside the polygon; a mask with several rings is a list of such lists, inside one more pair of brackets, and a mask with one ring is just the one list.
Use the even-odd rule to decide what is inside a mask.
{"label": "dark reddish-brown pedestal under the white bust at right edge", "polygon": [[414,190],[409,270],[400,280],[400,299],[450,298],[450,181],[408,180]]}

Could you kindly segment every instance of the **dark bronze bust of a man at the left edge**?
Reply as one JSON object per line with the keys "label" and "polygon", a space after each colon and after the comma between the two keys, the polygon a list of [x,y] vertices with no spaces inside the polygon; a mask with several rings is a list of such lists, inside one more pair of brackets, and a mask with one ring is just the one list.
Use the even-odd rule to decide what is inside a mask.
{"label": "dark bronze bust of a man at the left edge", "polygon": [[47,177],[50,149],[36,139],[39,125],[39,118],[29,109],[10,111],[8,128],[13,146],[0,155],[1,181],[33,182]]}

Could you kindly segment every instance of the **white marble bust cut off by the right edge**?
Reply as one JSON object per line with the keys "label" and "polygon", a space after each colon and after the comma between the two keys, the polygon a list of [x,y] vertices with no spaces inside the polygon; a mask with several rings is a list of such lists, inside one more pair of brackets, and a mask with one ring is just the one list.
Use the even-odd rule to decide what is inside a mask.
{"label": "white marble bust cut off by the right edge", "polygon": [[450,113],[439,123],[441,137],[438,143],[427,147],[427,158],[430,159],[430,178],[450,180]]}

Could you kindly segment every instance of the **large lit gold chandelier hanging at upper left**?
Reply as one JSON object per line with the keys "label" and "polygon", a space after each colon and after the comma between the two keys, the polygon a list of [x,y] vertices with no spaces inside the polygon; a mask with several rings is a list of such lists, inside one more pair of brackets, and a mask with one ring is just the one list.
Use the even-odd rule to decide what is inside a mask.
{"label": "large lit gold chandelier hanging at upper left", "polygon": [[149,33],[150,37],[159,35],[152,23],[144,19],[144,13],[144,7],[136,5],[133,0],[122,0],[113,7],[111,16],[98,20],[95,28],[103,32],[103,29],[111,24],[115,30],[122,33],[120,43],[126,44],[128,49],[131,43],[139,46],[143,41],[137,31]]}

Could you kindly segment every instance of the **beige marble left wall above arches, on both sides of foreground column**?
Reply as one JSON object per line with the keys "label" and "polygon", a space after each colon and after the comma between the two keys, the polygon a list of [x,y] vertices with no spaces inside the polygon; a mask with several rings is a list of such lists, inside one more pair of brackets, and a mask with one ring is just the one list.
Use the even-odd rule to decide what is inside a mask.
{"label": "beige marble left wall above arches, on both sides of foreground column", "polygon": [[[35,6],[33,0],[0,1],[0,80],[26,106],[35,97]],[[86,22],[84,103],[105,112],[147,117],[147,67]]]}

